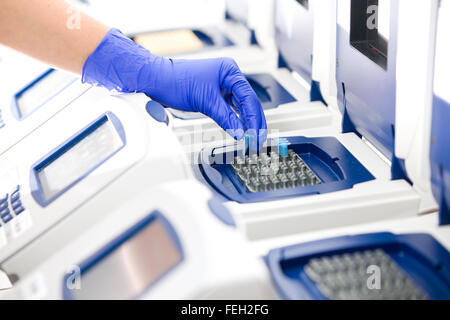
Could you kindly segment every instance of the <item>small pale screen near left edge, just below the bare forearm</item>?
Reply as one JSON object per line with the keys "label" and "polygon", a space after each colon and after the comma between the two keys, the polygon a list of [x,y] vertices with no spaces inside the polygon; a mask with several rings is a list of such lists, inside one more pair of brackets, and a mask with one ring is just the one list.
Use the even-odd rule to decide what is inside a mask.
{"label": "small pale screen near left edge, just below the bare forearm", "polygon": [[17,96],[16,103],[19,117],[21,119],[25,118],[47,103],[76,79],[77,78],[70,73],[51,70],[42,79]]}

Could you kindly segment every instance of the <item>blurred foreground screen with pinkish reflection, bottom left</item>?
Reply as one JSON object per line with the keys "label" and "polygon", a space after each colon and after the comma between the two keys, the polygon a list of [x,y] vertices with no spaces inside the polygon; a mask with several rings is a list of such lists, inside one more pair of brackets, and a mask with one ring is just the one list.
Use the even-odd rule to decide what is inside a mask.
{"label": "blurred foreground screen with pinkish reflection, bottom left", "polygon": [[81,274],[75,299],[131,299],[181,261],[181,252],[155,219]]}

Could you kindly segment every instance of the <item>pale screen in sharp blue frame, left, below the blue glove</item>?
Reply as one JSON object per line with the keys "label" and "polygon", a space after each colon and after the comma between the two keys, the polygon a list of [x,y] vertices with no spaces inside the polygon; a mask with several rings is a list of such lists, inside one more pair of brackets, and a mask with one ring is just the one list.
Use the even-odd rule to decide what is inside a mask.
{"label": "pale screen in sharp blue frame, left, below the blue glove", "polygon": [[44,200],[79,181],[123,145],[114,124],[103,116],[34,169]]}

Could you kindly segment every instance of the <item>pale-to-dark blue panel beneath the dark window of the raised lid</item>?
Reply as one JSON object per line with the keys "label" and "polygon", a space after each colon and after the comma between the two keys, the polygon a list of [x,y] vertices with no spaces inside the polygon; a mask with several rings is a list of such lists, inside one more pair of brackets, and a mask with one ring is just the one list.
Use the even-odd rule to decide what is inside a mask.
{"label": "pale-to-dark blue panel beneath the dark window of the raised lid", "polygon": [[[348,2],[350,3],[350,1]],[[338,4],[341,5],[341,4]],[[336,81],[343,132],[364,136],[393,159],[395,137],[398,1],[391,0],[387,70],[350,44],[350,35],[337,26]],[[356,71],[357,70],[357,71]]]}

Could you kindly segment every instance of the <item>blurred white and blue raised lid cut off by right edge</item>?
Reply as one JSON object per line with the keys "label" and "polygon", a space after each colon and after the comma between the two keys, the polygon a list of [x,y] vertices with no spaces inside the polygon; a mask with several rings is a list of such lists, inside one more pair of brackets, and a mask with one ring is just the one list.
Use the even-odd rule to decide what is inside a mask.
{"label": "blurred white and blue raised lid cut off by right edge", "polygon": [[441,2],[436,37],[431,123],[431,185],[439,204],[439,224],[450,224],[450,4]]}

